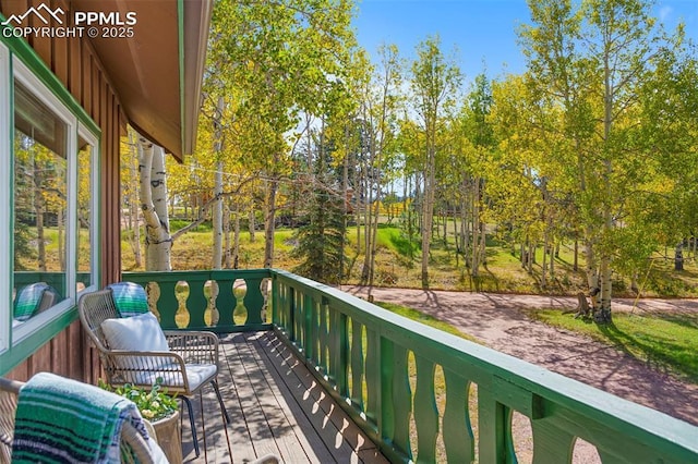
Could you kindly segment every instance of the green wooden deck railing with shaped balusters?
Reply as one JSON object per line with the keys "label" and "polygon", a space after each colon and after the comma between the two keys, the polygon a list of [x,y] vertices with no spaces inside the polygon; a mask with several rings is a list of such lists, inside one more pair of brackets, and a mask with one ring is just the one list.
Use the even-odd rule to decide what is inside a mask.
{"label": "green wooden deck railing with shaped balusters", "polygon": [[[269,289],[266,279],[273,326],[264,322],[265,292],[257,293]],[[533,463],[571,462],[577,438],[593,444],[604,464],[698,463],[698,427],[286,271],[124,273],[124,280],[157,282],[165,327],[177,326],[172,307],[182,310],[178,282],[189,283],[190,327],[273,327],[392,462],[515,463],[516,412],[530,420]],[[232,290],[236,280],[246,283],[244,296]],[[208,281],[220,289],[213,326],[204,317]],[[246,323],[231,310],[241,298]]]}

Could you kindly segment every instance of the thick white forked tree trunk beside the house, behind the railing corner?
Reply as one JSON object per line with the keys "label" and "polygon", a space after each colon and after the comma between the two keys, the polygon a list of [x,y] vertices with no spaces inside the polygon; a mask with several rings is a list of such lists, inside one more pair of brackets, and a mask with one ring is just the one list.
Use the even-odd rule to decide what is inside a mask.
{"label": "thick white forked tree trunk beside the house, behind the railing corner", "polygon": [[141,162],[141,210],[145,221],[145,270],[170,271],[172,237],[167,216],[167,183],[165,150],[152,142],[139,138]]}

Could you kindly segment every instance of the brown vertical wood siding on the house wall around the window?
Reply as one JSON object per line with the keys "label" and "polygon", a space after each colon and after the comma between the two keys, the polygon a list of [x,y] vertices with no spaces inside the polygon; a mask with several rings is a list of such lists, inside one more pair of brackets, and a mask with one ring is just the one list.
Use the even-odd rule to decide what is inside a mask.
{"label": "brown vertical wood siding on the house wall around the window", "polygon": [[[13,13],[23,13],[32,5],[38,7],[41,2],[4,0],[0,2],[0,11],[7,17]],[[67,13],[70,10],[70,5],[63,0],[52,0],[50,7],[60,7]],[[98,234],[101,281],[98,283],[105,285],[116,282],[121,276],[119,134],[125,125],[119,97],[109,84],[104,66],[87,38],[29,38],[28,41],[101,129],[101,172],[98,186],[101,188],[101,220]],[[96,382],[100,374],[99,358],[94,349],[89,347],[80,321],[73,322],[41,346],[10,373],[9,377],[26,380],[41,370]]]}

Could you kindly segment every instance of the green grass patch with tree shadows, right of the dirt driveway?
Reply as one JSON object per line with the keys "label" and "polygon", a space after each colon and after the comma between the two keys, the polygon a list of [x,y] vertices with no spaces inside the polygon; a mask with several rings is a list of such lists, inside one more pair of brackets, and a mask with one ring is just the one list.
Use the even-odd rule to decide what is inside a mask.
{"label": "green grass patch with tree shadows, right of the dirt driveway", "polygon": [[613,323],[606,326],[575,319],[555,309],[531,310],[529,315],[547,325],[587,334],[698,383],[697,314],[615,313]]}

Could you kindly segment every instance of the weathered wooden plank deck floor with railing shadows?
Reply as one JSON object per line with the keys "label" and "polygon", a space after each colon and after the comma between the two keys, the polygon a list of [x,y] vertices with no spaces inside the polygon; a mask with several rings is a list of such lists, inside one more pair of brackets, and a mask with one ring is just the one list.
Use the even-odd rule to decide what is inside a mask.
{"label": "weathered wooden plank deck floor with railing shadows", "polygon": [[224,427],[205,388],[192,400],[201,455],[185,418],[184,462],[237,464],[272,453],[288,464],[387,463],[274,332],[230,334],[220,347],[218,382],[231,423]]}

